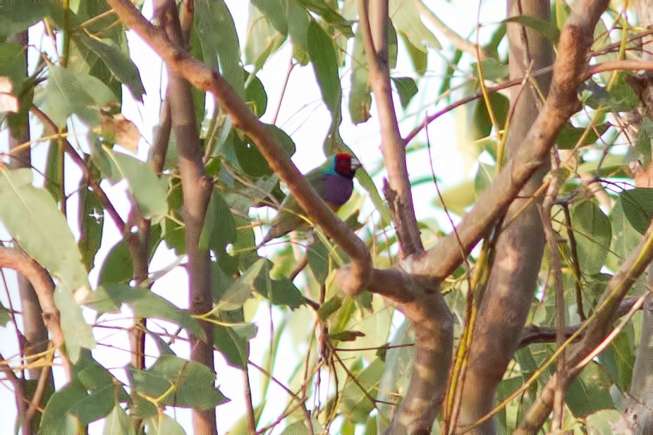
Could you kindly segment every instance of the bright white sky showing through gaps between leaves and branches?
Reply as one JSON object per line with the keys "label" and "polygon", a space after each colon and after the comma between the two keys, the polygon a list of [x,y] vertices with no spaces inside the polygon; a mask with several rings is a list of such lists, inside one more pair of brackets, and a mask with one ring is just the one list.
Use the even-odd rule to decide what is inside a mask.
{"label": "bright white sky showing through gaps between leaves and branches", "polygon": [[[240,46],[244,47],[248,30],[249,2],[244,0],[226,0],[226,3],[231,11],[233,20],[236,23]],[[477,2],[457,0],[448,3],[444,0],[438,0],[428,1],[427,4],[429,4],[433,11],[436,11],[441,20],[459,32],[463,37],[466,37],[475,29],[478,12]],[[150,1],[146,1],[143,13],[146,17],[152,16],[152,4]],[[489,35],[491,35],[496,29],[495,24],[505,18],[504,2],[485,1],[482,4],[480,16],[482,17],[482,24],[487,25],[487,27],[482,28],[481,32],[481,41],[483,42],[487,41]],[[426,24],[429,25],[428,23]],[[423,87],[425,85],[424,82],[418,82],[420,94],[415,97],[414,101],[405,111],[405,114],[408,114],[408,116],[402,115],[401,107],[398,103],[396,105],[398,116],[404,121],[401,123],[401,133],[404,135],[417,125],[417,123],[421,122],[425,116],[425,109],[429,114],[432,114],[437,109],[444,107],[444,103],[439,104],[437,108],[433,104],[428,103],[434,101],[435,97],[437,97],[437,90],[440,86],[439,78],[446,68],[444,59],[451,59],[453,51],[450,49],[451,45],[439,34],[439,32],[434,30],[434,33],[444,46],[442,52],[443,56],[439,56],[439,54],[434,53],[433,51],[429,55],[429,69],[426,75],[435,80],[429,80],[427,87]],[[130,98],[128,90],[123,87],[123,114],[138,126],[140,133],[143,136],[138,156],[141,159],[146,159],[147,153],[149,152],[149,145],[147,144],[152,143],[152,131],[159,120],[159,104],[163,92],[161,89],[165,89],[164,83],[166,74],[165,71],[162,71],[161,69],[162,66],[159,57],[154,54],[137,35],[128,32],[128,40],[133,61],[135,61],[140,70],[147,95],[144,97],[143,104],[136,103]],[[30,32],[30,42],[37,45],[37,47],[39,47],[39,44],[43,44],[44,47],[51,47],[51,42],[42,38],[42,30],[39,27]],[[35,50],[32,50],[31,55],[33,56],[35,52]],[[282,49],[267,61],[262,71],[257,75],[262,80],[268,96],[268,109],[267,113],[263,116],[262,121],[271,122],[271,116],[273,116],[276,105],[281,97],[281,86],[290,59],[291,45],[286,42]],[[410,63],[410,60],[405,56],[401,42],[399,42],[398,66],[402,67],[398,68],[398,71],[393,71],[394,76],[414,76],[412,63]],[[342,85],[343,95],[345,97],[343,101],[344,121],[341,128],[343,140],[345,140],[345,142],[352,147],[354,152],[358,154],[362,164],[364,164],[368,170],[374,171],[382,162],[381,152],[379,150],[379,129],[374,104],[372,105],[372,119],[370,119],[370,121],[358,126],[351,125],[348,113],[346,112],[348,90],[350,87],[350,76],[348,72],[346,72],[342,78]],[[427,92],[424,92],[424,90],[427,90]],[[456,97],[454,97],[454,99],[456,99]],[[209,105],[207,105],[207,109],[209,109],[208,106]],[[326,109],[326,106],[324,106],[324,103],[322,103],[319,88],[315,82],[315,75],[312,66],[309,64],[305,67],[295,67],[288,83],[286,94],[283,97],[283,104],[281,105],[277,125],[283,128],[286,133],[291,135],[295,141],[297,152],[293,156],[293,161],[295,161],[295,164],[297,164],[300,171],[306,172],[321,164],[324,160],[324,155],[322,154],[322,142],[324,141],[326,131],[329,127],[329,122],[329,111]],[[32,125],[38,125],[38,123]],[[69,123],[69,125],[71,124]],[[78,137],[71,137],[71,142],[73,145],[80,143],[80,146],[87,150],[84,143],[85,134],[83,125],[79,122],[73,122],[72,126],[74,130],[71,128],[71,131],[78,133]],[[32,128],[32,137],[37,137],[37,135],[41,134],[40,132],[40,128]],[[442,180],[441,188],[456,185],[460,181],[473,176],[475,167],[470,166],[470,160],[465,159],[463,154],[461,154],[461,147],[464,148],[464,145],[460,145],[460,142],[462,141],[456,136],[456,120],[453,114],[442,116],[432,123],[429,126],[429,137],[432,145],[432,157],[435,171],[437,176]],[[421,137],[418,137],[418,140],[420,139],[423,143],[424,136],[422,135]],[[4,131],[0,133],[0,151],[5,151],[6,147],[7,133]],[[37,145],[33,149],[33,164],[35,164],[39,169],[44,168],[46,152],[47,146],[45,145]],[[69,163],[70,161],[68,161],[68,169],[73,166]],[[426,152],[422,151],[409,154],[408,169],[410,176],[413,179],[430,176],[431,170],[428,164]],[[376,181],[377,188],[380,190],[381,180],[379,179]],[[37,179],[36,183],[38,182]],[[67,192],[75,190],[77,185],[78,180],[71,179],[70,184],[66,186]],[[102,184],[102,187],[106,192],[108,192],[109,197],[116,206],[116,209],[121,216],[123,216],[123,219],[125,219],[129,208],[125,194],[126,185],[124,185],[124,183],[118,183],[114,186],[110,186],[105,182]],[[426,183],[425,185],[418,186],[413,191],[413,195],[415,199],[417,219],[432,218],[434,216],[432,201],[436,195],[433,184]],[[75,196],[71,198],[69,204],[71,216],[73,216],[73,233],[78,235],[78,230],[74,223],[76,212],[73,212],[77,207]],[[367,214],[365,214],[366,210]],[[361,215],[361,219],[365,219],[371,211],[371,205],[367,204],[363,214]],[[446,226],[446,221],[444,219],[439,219],[439,221],[443,226]],[[261,234],[258,233],[258,235],[260,236]],[[0,228],[0,238],[3,240],[8,238],[6,232],[2,228]],[[119,238],[120,235],[111,219],[106,217],[104,220],[104,238],[102,241],[102,247],[98,252],[95,262],[97,266],[90,275],[92,285],[97,283],[99,266],[102,265],[106,254]],[[157,255],[154,256],[150,271],[164,269],[175,261],[176,257],[172,252],[160,247],[157,251]],[[10,277],[9,287],[12,301],[16,306],[19,299],[16,292],[16,286],[14,285],[15,281],[11,274],[7,275]],[[187,288],[188,281],[185,271],[180,267],[177,267],[164,278],[157,281],[157,283],[154,284],[153,290],[179,307],[188,307]],[[5,307],[8,306],[6,293],[4,291],[0,291],[0,302]],[[255,322],[260,324],[258,335],[250,342],[250,358],[257,362],[262,361],[262,357],[267,351],[267,348],[269,348],[269,316],[267,305],[262,304],[261,308],[262,310],[259,310],[259,314],[257,314],[257,317],[255,318]],[[94,313],[91,310],[87,310],[86,314],[87,321],[94,321]],[[128,316],[130,316],[130,312],[125,310],[122,316],[116,315],[114,318],[119,319]],[[279,316],[277,315],[276,317]],[[275,320],[278,321],[279,319]],[[118,323],[114,323],[114,325],[115,324]],[[124,322],[120,324],[124,325]],[[149,321],[148,326],[153,326],[154,324],[164,324],[164,322]],[[176,326],[173,327],[171,331],[174,331],[174,329],[176,329]],[[97,329],[96,336],[98,339],[101,339],[103,343],[110,342],[114,343],[114,345],[128,346],[126,332],[116,333],[113,330]],[[114,336],[114,338],[107,340],[107,336]],[[150,351],[154,349],[152,344],[152,342],[148,343],[148,349]],[[175,350],[181,357],[188,357],[187,343],[179,342],[177,345],[173,346],[173,350]],[[280,358],[283,357],[282,355],[288,355],[288,360],[283,361],[279,359],[277,361],[276,371],[274,372],[277,379],[280,379],[281,381],[288,380],[288,376],[294,369],[298,358],[301,358],[303,355],[300,351],[303,351],[303,349],[293,349],[288,339],[281,343],[278,355],[280,355]],[[0,328],[0,352],[5,357],[16,355],[18,352],[15,332],[11,323],[9,323],[5,328]],[[125,371],[121,369],[121,367],[125,367],[129,362],[129,355],[127,352],[100,345],[96,350],[94,350],[93,355],[97,360],[99,360],[99,362],[104,364],[105,367],[114,369],[112,372],[118,376],[118,379],[126,381]],[[216,352],[215,355],[217,384],[219,384],[221,391],[232,400],[231,403],[221,405],[217,408],[219,433],[222,434],[231,428],[236,420],[243,417],[245,413],[242,388],[243,376],[239,370],[228,367],[224,362],[224,358],[221,357],[219,353]],[[149,362],[151,363],[152,360],[149,360]],[[250,376],[252,393],[254,394],[254,404],[257,405],[260,403],[260,397],[258,397],[258,395],[260,393],[262,378],[258,376],[255,369],[250,369]],[[15,422],[16,405],[14,402],[13,391],[8,388],[8,383],[2,381],[1,384],[0,409],[2,409],[3,412],[1,414],[2,417],[0,418],[0,433],[10,433],[13,431],[13,424]],[[57,388],[61,388],[61,386],[61,376],[59,376]],[[269,419],[274,419],[274,417],[279,415],[281,408],[288,398],[287,393],[281,391],[281,389],[274,386],[274,384],[271,384],[269,398],[277,397],[279,398],[277,406],[268,403],[267,410],[261,420],[263,424],[267,424]],[[174,415],[174,417],[176,417],[186,429],[190,428],[190,410],[176,410],[176,415]],[[336,427],[338,426],[336,425]],[[90,432],[92,434],[101,433],[101,428],[102,423],[92,424]],[[277,429],[274,433],[279,432],[280,429]]]}

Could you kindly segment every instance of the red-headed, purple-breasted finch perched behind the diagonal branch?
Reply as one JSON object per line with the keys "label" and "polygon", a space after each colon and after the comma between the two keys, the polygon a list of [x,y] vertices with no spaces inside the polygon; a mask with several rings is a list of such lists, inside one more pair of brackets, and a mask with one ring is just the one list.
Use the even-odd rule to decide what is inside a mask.
{"label": "red-headed, purple-breasted finch perched behind the diagonal branch", "polygon": [[[351,197],[354,189],[354,174],[361,164],[355,157],[346,152],[339,152],[327,159],[322,166],[313,169],[305,175],[308,184],[315,189],[317,195],[337,212]],[[281,202],[279,213],[276,214],[270,231],[265,235],[259,246],[274,238],[281,237],[295,230],[306,230],[308,222],[303,218],[304,211],[293,195],[287,195]]]}

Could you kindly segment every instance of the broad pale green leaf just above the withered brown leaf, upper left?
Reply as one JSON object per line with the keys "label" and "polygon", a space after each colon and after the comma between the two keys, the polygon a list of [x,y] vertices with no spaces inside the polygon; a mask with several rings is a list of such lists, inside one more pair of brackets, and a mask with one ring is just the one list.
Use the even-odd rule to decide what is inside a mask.
{"label": "broad pale green leaf just above the withered brown leaf, upper left", "polygon": [[51,65],[47,81],[47,114],[58,127],[66,126],[68,116],[75,114],[90,127],[99,125],[99,109],[116,97],[103,82],[86,73],[73,73]]}

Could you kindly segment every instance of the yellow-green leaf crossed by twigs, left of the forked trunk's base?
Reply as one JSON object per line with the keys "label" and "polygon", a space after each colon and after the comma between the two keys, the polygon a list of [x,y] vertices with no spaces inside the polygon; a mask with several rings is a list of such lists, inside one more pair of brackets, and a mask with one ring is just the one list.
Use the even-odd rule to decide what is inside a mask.
{"label": "yellow-green leaf crossed by twigs, left of the forked trunk's base", "polygon": [[353,422],[365,423],[370,416],[370,412],[374,409],[370,397],[372,399],[377,397],[385,367],[386,364],[377,358],[366,369],[353,372],[357,383],[348,379],[343,389],[340,408],[341,412]]}

